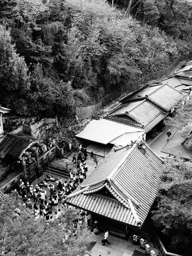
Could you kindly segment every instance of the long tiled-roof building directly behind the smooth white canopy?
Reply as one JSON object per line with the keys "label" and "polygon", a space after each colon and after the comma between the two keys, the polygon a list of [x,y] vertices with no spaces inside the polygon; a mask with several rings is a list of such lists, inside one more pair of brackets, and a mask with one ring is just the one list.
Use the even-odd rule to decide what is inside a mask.
{"label": "long tiled-roof building directly behind the smooth white canopy", "polygon": [[122,98],[122,105],[108,118],[119,122],[129,120],[134,126],[140,124],[146,131],[146,140],[149,140],[163,131],[166,117],[186,97],[186,93],[168,83],[147,86]]}

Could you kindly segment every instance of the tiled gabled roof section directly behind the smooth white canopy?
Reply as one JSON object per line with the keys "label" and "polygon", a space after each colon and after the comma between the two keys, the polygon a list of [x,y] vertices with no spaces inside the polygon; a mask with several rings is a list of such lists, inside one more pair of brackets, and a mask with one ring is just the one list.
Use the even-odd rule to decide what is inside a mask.
{"label": "tiled gabled roof section directly behind the smooth white canopy", "polygon": [[[158,122],[163,119],[163,117],[167,115],[160,108],[158,108],[147,99],[144,99],[143,101],[136,101],[134,102],[134,105],[132,105],[132,103],[133,102],[122,105],[116,111],[112,112],[111,115],[127,115],[129,118],[135,120],[135,122],[143,125],[144,128],[149,125],[148,128],[145,128],[145,130],[147,131],[151,130],[151,128],[153,128]],[[132,108],[130,108],[130,105],[132,106]],[[154,124],[154,126],[151,127],[152,124]],[[132,123],[132,125],[134,125],[134,122]]]}

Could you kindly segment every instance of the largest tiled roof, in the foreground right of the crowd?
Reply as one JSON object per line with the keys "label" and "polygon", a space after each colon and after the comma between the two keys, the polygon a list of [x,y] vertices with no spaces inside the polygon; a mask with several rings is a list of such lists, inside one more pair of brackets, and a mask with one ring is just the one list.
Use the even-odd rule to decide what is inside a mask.
{"label": "largest tiled roof, in the foreground right of the crowd", "polygon": [[[144,145],[145,154],[137,143],[129,149],[113,147],[97,169],[67,197],[68,203],[126,224],[142,225],[167,165]],[[99,195],[104,187],[115,199]]]}

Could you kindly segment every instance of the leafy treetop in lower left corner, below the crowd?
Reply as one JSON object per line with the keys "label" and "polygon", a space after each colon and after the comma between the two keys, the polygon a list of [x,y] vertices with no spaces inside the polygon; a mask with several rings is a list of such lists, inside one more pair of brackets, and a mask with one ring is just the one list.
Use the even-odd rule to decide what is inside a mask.
{"label": "leafy treetop in lower left corner, below the crowd", "polygon": [[[15,214],[16,208],[20,216]],[[47,224],[44,219],[35,220],[14,193],[0,197],[0,216],[0,239],[8,256],[84,256],[94,240],[87,228],[78,229],[76,237],[70,236],[75,210],[69,209],[61,219]]]}

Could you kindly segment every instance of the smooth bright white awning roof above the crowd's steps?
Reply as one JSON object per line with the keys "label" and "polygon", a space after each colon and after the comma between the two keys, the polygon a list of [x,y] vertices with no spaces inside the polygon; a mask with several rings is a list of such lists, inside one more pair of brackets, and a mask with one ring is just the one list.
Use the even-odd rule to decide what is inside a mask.
{"label": "smooth bright white awning roof above the crowd's steps", "polygon": [[[79,139],[90,140],[96,143],[108,144],[113,140],[122,136],[123,134],[137,133],[138,137],[145,131],[141,128],[132,127],[117,122],[113,122],[107,119],[92,120],[83,131],[76,135]],[[128,137],[130,137],[129,135]],[[126,136],[125,136],[126,138]],[[122,139],[119,139],[122,140]],[[125,139],[126,140],[126,139]],[[132,139],[131,139],[132,140]],[[118,143],[116,143],[118,144]],[[128,143],[125,142],[125,145]]]}

